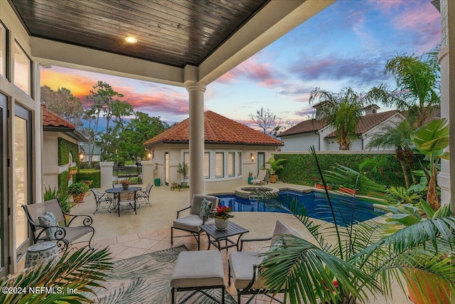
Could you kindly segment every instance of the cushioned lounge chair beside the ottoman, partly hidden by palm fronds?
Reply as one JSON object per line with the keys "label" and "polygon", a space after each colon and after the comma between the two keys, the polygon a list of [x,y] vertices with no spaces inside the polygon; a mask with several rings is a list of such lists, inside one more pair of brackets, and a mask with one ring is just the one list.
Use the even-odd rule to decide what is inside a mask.
{"label": "cushioned lounge chair beside the ottoman, partly hidden by palm fronds", "polygon": [[[301,237],[294,229],[284,224],[282,221],[277,221],[273,231],[273,235],[265,239],[242,239],[240,241],[240,251],[232,251],[229,254],[229,276],[228,283],[230,285],[231,278],[234,282],[235,289],[237,289],[237,303],[240,304],[240,297],[242,295],[251,295],[247,303],[255,297],[255,295],[264,294],[269,295],[269,290],[264,285],[264,281],[257,278],[257,266],[262,263],[264,256],[261,256],[265,251],[242,251],[243,244],[251,241],[268,241],[270,248],[278,246],[277,244],[283,241],[282,236],[292,235]],[[284,289],[279,290],[279,293],[284,293]],[[277,300],[277,299],[275,299]],[[279,301],[279,300],[277,300]],[[280,302],[280,301],[279,301]]]}

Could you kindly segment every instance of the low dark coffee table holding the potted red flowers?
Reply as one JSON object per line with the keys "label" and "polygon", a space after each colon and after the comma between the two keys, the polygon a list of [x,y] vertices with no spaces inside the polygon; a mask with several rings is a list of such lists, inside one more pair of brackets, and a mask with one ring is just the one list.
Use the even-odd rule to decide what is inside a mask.
{"label": "low dark coffee table holding the potted red flowers", "polygon": [[[238,243],[240,242],[240,238],[242,237],[243,234],[246,234],[247,232],[250,232],[249,230],[243,228],[240,225],[235,224],[232,221],[229,221],[228,228],[226,230],[220,231],[215,228],[215,224],[206,224],[206,225],[201,225],[200,229],[205,231],[205,233],[208,236],[208,248],[207,250],[210,249],[210,245],[213,244],[216,248],[218,248],[219,251],[226,249],[230,247],[236,247],[237,251],[239,250]],[[230,236],[237,236],[239,235],[239,238],[237,239],[237,242],[232,241],[229,239]],[[211,238],[211,239],[210,239]],[[213,240],[212,240],[213,239]],[[225,241],[225,245],[222,246],[220,241]]]}

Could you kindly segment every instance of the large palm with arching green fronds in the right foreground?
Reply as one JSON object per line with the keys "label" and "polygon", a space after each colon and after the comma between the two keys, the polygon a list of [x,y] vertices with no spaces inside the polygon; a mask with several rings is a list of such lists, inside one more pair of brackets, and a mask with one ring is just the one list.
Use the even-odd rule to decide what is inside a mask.
{"label": "large palm with arching green fronds in the right foreground", "polygon": [[[311,153],[326,185],[314,148]],[[348,183],[355,181],[359,194],[380,193],[384,189],[346,167],[338,167],[337,172],[328,174],[331,182],[333,178],[346,179]],[[265,259],[259,267],[261,275],[272,292],[286,286],[284,303],[288,300],[292,304],[316,303],[316,298],[320,298],[321,303],[352,304],[357,299],[366,303],[366,291],[373,295],[390,295],[394,284],[405,288],[404,281],[414,280],[404,276],[409,268],[434,273],[449,285],[451,292],[455,291],[455,276],[450,267],[451,248],[455,246],[451,228],[455,225],[454,216],[439,214],[395,231],[376,221],[345,222],[347,225],[341,227],[337,225],[336,206],[333,206],[328,191],[326,196],[334,226],[314,224],[296,204],[291,203],[291,211],[317,243],[285,235],[277,250],[264,253]],[[350,199],[353,200],[351,212],[354,214],[361,202],[355,199],[355,195]],[[350,214],[344,214],[346,217]],[[335,243],[328,243],[324,234]],[[424,284],[431,284],[438,296],[446,293],[441,285]]]}

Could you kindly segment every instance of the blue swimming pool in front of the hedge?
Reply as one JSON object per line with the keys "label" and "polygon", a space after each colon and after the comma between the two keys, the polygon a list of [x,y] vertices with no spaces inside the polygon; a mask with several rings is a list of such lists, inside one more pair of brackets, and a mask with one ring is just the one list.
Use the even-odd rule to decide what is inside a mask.
{"label": "blue swimming pool in front of the hedge", "polygon": [[[235,194],[215,194],[220,198],[220,206],[230,206],[232,211],[262,211],[281,212],[290,214],[287,209],[291,199],[296,199],[297,206],[304,206],[306,214],[314,219],[322,219],[333,223],[326,194],[319,191],[294,192],[284,190],[279,192],[279,199],[285,206],[274,200],[240,199]],[[373,202],[366,199],[331,194],[331,201],[335,210],[337,224],[347,226],[353,222],[366,221],[383,214],[373,207]]]}

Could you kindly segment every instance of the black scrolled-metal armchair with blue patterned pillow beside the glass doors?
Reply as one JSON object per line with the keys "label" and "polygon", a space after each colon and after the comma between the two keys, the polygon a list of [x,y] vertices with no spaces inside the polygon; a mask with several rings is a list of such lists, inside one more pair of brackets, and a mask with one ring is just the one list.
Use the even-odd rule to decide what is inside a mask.
{"label": "black scrolled-metal armchair with blue patterned pillow beside the glass doors", "polygon": [[[88,246],[93,249],[91,241],[95,229],[92,227],[91,216],[67,214],[60,208],[58,199],[22,205],[22,208],[26,212],[33,243],[56,241],[60,251],[66,252],[68,247],[75,243],[74,241],[86,234],[91,234]],[[69,219],[65,219],[65,216]],[[76,226],[76,223],[79,226]]]}

